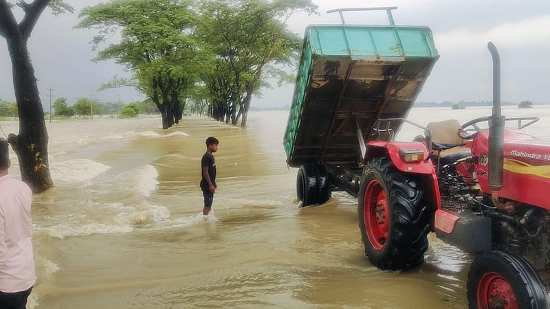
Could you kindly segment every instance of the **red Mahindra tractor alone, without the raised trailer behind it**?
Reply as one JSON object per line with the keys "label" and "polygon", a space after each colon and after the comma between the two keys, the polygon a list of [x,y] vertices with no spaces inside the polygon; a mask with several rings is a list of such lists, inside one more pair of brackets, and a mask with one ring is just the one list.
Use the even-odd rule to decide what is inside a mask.
{"label": "red Mahindra tractor alone, without the raised trailer behind it", "polygon": [[[490,117],[423,128],[378,119],[366,143],[358,193],[362,242],[377,267],[423,262],[428,233],[475,254],[467,277],[470,308],[550,308],[550,144],[522,131],[536,117],[500,113],[500,59],[493,57]],[[425,130],[395,141],[391,123]],[[516,128],[505,123],[517,124]],[[483,126],[485,124],[485,126]],[[375,135],[373,137],[373,135]]]}

